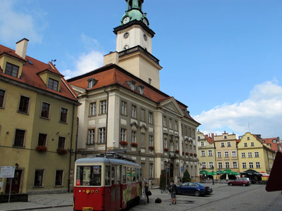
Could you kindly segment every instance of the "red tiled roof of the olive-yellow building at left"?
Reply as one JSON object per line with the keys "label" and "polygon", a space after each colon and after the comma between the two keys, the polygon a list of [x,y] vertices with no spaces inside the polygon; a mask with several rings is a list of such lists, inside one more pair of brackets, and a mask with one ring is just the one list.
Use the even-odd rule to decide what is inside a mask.
{"label": "red tiled roof of the olive-yellow building at left", "polygon": [[[77,101],[75,91],[71,88],[71,86],[66,82],[63,78],[63,75],[56,69],[56,67],[52,63],[42,63],[41,61],[32,58],[30,56],[26,56],[25,59],[18,56],[13,49],[9,49],[6,46],[0,44],[0,57],[8,55],[14,58],[20,59],[24,62],[23,71],[20,78],[12,77],[10,75],[6,75],[3,73],[4,67],[0,68],[0,77],[4,77],[6,79],[10,79],[13,81],[17,81],[23,84],[26,84],[30,87],[36,87],[37,89],[42,89],[44,91],[49,91],[58,96],[62,96],[64,98],[71,99],[73,101]],[[28,62],[30,61],[30,62]],[[42,79],[39,77],[40,72],[49,71],[53,72],[56,75],[61,76],[61,91],[54,91],[51,89],[47,89],[47,84],[44,84]]]}

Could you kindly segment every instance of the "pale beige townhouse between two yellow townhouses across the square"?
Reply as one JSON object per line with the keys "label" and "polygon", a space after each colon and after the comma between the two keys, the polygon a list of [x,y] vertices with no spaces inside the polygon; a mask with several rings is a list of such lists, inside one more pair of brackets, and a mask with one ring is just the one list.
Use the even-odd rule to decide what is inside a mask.
{"label": "pale beige townhouse between two yellow townhouses across the square", "polygon": [[214,136],[216,146],[216,167],[218,170],[239,172],[236,135],[224,132]]}

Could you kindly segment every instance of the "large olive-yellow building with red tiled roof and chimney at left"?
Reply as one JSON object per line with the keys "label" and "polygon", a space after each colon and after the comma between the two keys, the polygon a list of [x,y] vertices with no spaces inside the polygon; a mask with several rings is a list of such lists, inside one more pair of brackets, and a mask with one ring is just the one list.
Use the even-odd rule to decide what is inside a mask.
{"label": "large olive-yellow building with red tiled roof and chimney at left", "polygon": [[55,65],[26,56],[27,42],[0,45],[0,165],[16,167],[13,193],[68,191],[79,103]]}

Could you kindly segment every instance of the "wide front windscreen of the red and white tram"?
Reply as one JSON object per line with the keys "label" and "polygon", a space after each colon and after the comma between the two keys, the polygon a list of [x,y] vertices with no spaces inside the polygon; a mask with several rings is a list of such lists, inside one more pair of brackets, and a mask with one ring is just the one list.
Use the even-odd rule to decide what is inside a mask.
{"label": "wide front windscreen of the red and white tram", "polygon": [[78,166],[76,169],[77,186],[101,186],[101,165]]}

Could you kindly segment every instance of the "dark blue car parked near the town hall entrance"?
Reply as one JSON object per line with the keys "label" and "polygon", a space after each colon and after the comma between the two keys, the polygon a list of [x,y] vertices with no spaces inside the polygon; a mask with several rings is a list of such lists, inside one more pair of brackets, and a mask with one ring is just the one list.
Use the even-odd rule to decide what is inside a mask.
{"label": "dark blue car parked near the town hall entrance", "polygon": [[189,194],[194,196],[204,196],[212,193],[212,188],[197,182],[185,182],[177,187],[177,194]]}

